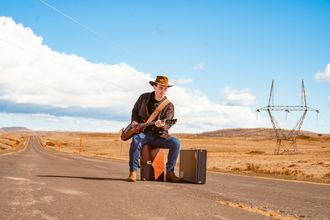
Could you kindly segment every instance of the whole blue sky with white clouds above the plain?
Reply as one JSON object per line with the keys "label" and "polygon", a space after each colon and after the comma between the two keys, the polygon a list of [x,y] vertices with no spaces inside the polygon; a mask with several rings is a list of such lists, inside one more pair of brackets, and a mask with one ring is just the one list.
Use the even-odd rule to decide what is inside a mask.
{"label": "whole blue sky with white clouds above the plain", "polygon": [[[301,105],[330,133],[330,1],[0,0],[0,127],[116,132],[166,75],[173,132],[272,127]],[[302,112],[273,112],[291,129]]]}

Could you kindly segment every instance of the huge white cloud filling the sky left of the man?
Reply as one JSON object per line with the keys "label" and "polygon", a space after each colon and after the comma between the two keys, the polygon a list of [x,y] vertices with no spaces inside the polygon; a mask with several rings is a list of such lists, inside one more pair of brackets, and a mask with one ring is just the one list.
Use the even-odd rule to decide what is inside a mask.
{"label": "huge white cloud filling the sky left of the man", "polygon": [[[0,98],[58,107],[109,107],[128,113],[150,75],[125,63],[94,64],[51,50],[29,28],[0,18]],[[132,80],[134,79],[134,80]]]}

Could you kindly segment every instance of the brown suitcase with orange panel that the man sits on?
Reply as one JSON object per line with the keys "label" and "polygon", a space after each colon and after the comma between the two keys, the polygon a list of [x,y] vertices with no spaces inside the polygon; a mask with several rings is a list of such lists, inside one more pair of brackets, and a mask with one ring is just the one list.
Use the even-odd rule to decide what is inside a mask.
{"label": "brown suitcase with orange panel that the man sits on", "polygon": [[164,151],[151,145],[141,150],[141,180],[164,181]]}

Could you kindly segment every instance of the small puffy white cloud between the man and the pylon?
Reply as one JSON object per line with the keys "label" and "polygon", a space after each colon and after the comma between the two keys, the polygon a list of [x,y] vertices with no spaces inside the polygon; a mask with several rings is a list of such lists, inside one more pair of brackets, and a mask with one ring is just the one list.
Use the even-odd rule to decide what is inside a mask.
{"label": "small puffy white cloud between the man and the pylon", "polygon": [[256,101],[256,97],[251,94],[250,89],[238,90],[225,87],[221,92],[227,105],[251,105]]}

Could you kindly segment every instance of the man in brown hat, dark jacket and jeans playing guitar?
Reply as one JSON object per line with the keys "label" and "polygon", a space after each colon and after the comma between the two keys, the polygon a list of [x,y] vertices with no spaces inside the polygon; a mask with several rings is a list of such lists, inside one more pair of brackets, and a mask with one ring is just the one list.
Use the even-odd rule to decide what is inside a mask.
{"label": "man in brown hat, dark jacket and jeans playing guitar", "polygon": [[[157,76],[155,81],[150,81],[154,91],[142,94],[136,101],[132,110],[132,126],[135,127],[139,123],[147,121],[149,116],[155,109],[166,100],[166,92],[172,85],[168,84],[166,76]],[[136,181],[136,172],[142,146],[150,144],[154,147],[168,148],[168,158],[166,163],[166,181],[180,182],[174,174],[174,167],[180,152],[180,142],[177,138],[168,134],[170,125],[165,124],[164,119],[173,119],[174,105],[170,102],[156,116],[153,121],[155,125],[146,127],[141,133],[135,134],[132,137],[132,142],[129,150],[129,169],[130,174],[128,181]]]}

